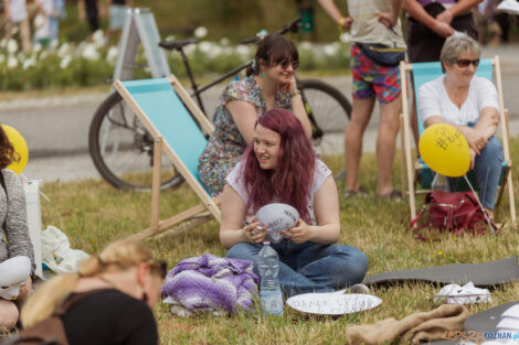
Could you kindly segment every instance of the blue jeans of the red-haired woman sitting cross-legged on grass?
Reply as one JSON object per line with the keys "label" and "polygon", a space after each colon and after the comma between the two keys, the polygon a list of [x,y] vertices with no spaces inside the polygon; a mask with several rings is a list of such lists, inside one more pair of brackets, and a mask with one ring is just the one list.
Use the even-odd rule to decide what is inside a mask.
{"label": "blue jeans of the red-haired woman sitting cross-legged on grass", "polygon": [[[242,242],[229,249],[227,258],[250,260],[260,277],[258,254],[263,245]],[[272,247],[279,256],[279,284],[285,295],[331,292],[360,283],[368,271],[368,258],[345,245],[322,246],[310,241],[297,245],[283,239]]]}

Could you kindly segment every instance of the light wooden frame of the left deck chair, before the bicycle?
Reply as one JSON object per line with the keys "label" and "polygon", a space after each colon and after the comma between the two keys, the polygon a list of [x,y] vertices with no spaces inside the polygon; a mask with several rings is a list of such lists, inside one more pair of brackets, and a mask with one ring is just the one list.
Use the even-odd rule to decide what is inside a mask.
{"label": "light wooden frame of the left deck chair, before the bicycle", "polygon": [[[173,87],[173,90],[177,94],[177,96],[180,98],[180,100],[182,100],[182,103],[186,105],[186,107],[191,112],[193,118],[202,127],[203,132],[205,132],[206,134],[212,134],[214,131],[214,127],[208,120],[208,118],[203,115],[200,108],[194,104],[193,99],[189,96],[188,91],[182,87],[180,82],[173,75],[170,75],[168,79],[171,83],[171,86]],[[189,169],[184,165],[182,160],[174,152],[174,150],[169,145],[169,143],[166,142],[160,131],[150,121],[148,116],[140,108],[138,103],[134,99],[134,97],[130,95],[128,89],[123,85],[123,83],[120,80],[116,80],[114,83],[114,86],[119,93],[119,95],[129,105],[131,110],[137,115],[137,117],[142,122],[145,128],[152,136],[153,142],[155,142],[152,184],[151,184],[151,222],[150,222],[151,224],[149,228],[130,236],[129,239],[142,239],[149,236],[155,236],[163,231],[167,228],[170,228],[174,225],[179,225],[180,223],[183,223],[183,224],[179,225],[178,227],[171,230],[162,233],[157,237],[163,236],[166,234],[171,234],[171,233],[186,231],[192,227],[195,227],[200,224],[209,222],[212,217],[214,217],[218,222],[220,222],[221,214],[220,214],[220,208],[218,206],[220,204],[220,196],[212,198],[208,194],[208,192],[205,192],[204,187],[199,183],[197,177],[191,174]],[[197,193],[198,197],[202,201],[201,204],[194,207],[191,207],[187,211],[183,211],[165,220],[160,220],[160,217],[159,217],[160,173],[161,173],[162,153],[165,153],[166,157],[173,163],[178,172],[182,174],[186,182],[190,185],[190,187]],[[209,214],[206,212],[203,213],[204,211],[209,211]]]}

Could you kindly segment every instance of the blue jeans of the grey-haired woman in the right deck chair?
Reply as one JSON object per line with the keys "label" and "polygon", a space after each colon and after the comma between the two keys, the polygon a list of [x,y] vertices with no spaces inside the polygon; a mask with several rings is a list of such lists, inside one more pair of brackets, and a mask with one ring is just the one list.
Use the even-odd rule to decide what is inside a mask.
{"label": "blue jeans of the grey-haired woman in the right deck chair", "polygon": [[[476,175],[477,190],[483,206],[494,209],[496,203],[497,187],[502,169],[502,145],[496,138],[491,137],[485,148],[476,155],[473,172]],[[451,191],[456,191],[456,185],[463,177],[449,177],[448,186]]]}

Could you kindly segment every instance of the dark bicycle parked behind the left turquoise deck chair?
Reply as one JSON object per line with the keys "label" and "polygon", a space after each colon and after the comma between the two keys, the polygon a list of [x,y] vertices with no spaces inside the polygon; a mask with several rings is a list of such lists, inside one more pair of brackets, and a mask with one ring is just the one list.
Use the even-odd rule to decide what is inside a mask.
{"label": "dark bicycle parked behind the left turquoise deck chair", "polygon": [[[297,18],[283,25],[283,29],[277,32],[279,34],[295,33],[299,29],[300,21],[301,18]],[[242,44],[256,43],[260,40],[260,36],[255,36],[243,40]],[[183,51],[184,46],[195,43],[198,40],[162,41],[159,46],[180,53],[193,90],[192,97],[208,116],[201,94],[229,77],[236,76],[247,68],[251,62],[206,85],[199,86]],[[351,105],[345,95],[333,86],[318,79],[301,80],[296,77],[296,82],[313,127],[313,140],[319,141],[325,132],[343,132],[351,114]],[[88,149],[94,165],[113,186],[125,190],[151,187],[152,138],[119,94],[110,94],[97,108],[89,128]],[[162,169],[161,188],[174,187],[182,183],[182,176],[176,173],[172,164],[167,159],[162,159],[162,162],[170,165]]]}

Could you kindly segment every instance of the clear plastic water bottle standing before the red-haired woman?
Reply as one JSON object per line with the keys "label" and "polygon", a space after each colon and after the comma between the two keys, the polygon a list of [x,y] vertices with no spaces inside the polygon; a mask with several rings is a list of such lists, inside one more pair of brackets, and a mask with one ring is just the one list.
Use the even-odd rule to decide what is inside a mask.
{"label": "clear plastic water bottle standing before the red-haired woman", "polygon": [[265,314],[283,315],[283,294],[277,274],[279,261],[277,251],[271,247],[271,242],[263,242],[260,250],[260,298],[262,310]]}

